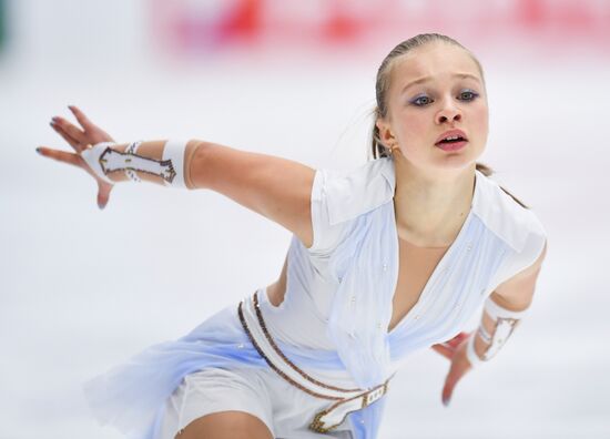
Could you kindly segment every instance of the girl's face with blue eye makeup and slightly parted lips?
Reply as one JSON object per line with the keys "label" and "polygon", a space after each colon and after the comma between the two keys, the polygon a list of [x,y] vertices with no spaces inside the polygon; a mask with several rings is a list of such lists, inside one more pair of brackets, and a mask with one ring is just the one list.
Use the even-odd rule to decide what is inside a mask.
{"label": "girl's face with blue eye makeup and slightly parted lips", "polygon": [[[430,172],[472,165],[487,142],[488,106],[470,54],[435,42],[394,62],[388,113],[377,121],[383,143],[399,146],[408,162]],[[447,136],[458,139],[443,141]]]}

